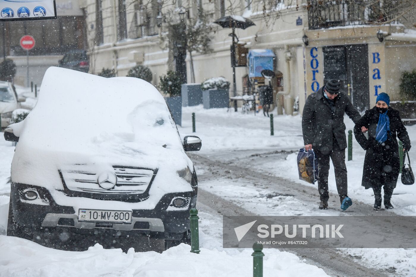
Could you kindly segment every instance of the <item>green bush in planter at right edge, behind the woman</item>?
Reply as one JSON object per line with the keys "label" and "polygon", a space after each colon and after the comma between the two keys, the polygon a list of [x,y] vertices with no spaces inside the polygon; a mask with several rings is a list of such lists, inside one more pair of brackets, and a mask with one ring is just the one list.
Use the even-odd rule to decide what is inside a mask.
{"label": "green bush in planter at right edge, behind the woman", "polygon": [[404,125],[416,124],[416,69],[401,74],[399,85],[402,101],[390,101],[390,106],[399,110]]}

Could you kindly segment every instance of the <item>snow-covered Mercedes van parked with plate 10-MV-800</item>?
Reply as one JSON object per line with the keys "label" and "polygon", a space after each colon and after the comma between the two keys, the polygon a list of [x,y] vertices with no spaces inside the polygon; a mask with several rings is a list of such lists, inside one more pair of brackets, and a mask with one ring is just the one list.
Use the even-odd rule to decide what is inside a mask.
{"label": "snow-covered Mercedes van parked with plate 10-MV-800", "polygon": [[201,140],[181,140],[150,83],[51,67],[35,108],[4,136],[17,142],[7,235],[76,250],[188,240],[197,177],[185,151]]}

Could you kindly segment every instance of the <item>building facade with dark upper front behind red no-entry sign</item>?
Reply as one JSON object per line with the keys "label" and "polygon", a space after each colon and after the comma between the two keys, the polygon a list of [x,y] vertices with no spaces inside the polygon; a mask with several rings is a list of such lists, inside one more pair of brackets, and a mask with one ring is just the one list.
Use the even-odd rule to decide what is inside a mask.
{"label": "building facade with dark upper front behind red no-entry sign", "polygon": [[27,56],[20,38],[31,35],[35,47],[29,51],[29,82],[40,85],[45,71],[57,66],[65,52],[85,49],[85,15],[79,0],[56,0],[56,20],[2,22],[2,54],[16,64],[15,84],[27,86]]}

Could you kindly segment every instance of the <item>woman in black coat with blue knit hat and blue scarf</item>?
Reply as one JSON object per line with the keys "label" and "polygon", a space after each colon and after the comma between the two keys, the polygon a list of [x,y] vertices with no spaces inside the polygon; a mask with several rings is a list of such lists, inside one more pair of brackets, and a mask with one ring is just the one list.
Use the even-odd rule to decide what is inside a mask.
{"label": "woman in black coat with blue knit hat and blue scarf", "polygon": [[[391,205],[391,195],[396,187],[400,171],[399,146],[396,137],[403,142],[403,148],[410,150],[410,139],[401,123],[399,111],[390,106],[387,93],[380,93],[376,106],[366,110],[365,115],[355,124],[354,135],[361,147],[366,150],[362,186],[374,191],[374,210],[381,208],[381,187],[384,187],[384,207]],[[364,131],[368,130],[368,140]]]}

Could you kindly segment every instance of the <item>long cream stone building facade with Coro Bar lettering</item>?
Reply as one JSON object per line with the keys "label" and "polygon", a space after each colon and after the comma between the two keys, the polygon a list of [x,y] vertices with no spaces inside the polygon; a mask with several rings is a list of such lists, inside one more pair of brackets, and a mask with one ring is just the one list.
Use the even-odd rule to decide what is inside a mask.
{"label": "long cream stone building facade with Coro Bar lettering", "polygon": [[[91,73],[109,68],[117,76],[126,76],[131,67],[142,64],[151,69],[152,83],[157,85],[161,75],[176,68],[175,51],[160,37],[166,34],[163,20],[167,10],[180,8],[186,10],[188,19],[204,10],[212,22],[224,15],[243,15],[255,23],[244,30],[236,29],[236,35],[246,48],[275,53],[279,113],[284,110],[292,114],[294,102],[302,112],[306,97],[330,78],[342,81],[344,93],[359,110],[374,105],[381,92],[399,100],[401,73],[416,67],[415,13],[402,17],[400,7],[389,4],[397,1],[374,6],[374,1],[366,0],[282,0],[268,9],[262,6],[265,1],[256,0],[231,4],[224,0],[176,0],[170,6],[162,2],[149,0],[145,5],[140,0],[86,0]],[[162,20],[160,27],[158,20]],[[231,29],[215,24],[210,29],[212,51],[192,54],[194,76],[189,53],[186,56],[188,82],[191,77],[198,83],[211,77],[233,78]],[[239,94],[243,93],[248,70],[236,68]]]}

